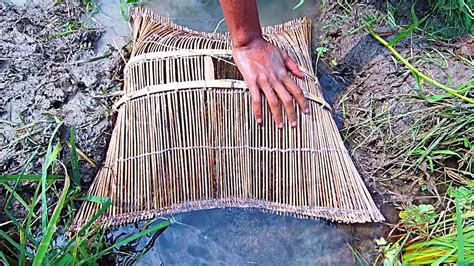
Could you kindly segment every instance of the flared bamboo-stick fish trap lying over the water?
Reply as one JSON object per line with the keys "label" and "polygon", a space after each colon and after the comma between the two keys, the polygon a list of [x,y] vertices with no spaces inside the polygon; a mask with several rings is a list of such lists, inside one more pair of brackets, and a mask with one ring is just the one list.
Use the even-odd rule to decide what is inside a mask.
{"label": "flared bamboo-stick fish trap lying over the water", "polygon": [[[178,26],[151,10],[131,16],[133,47],[105,164],[89,195],[108,198],[103,226],[190,210],[250,207],[346,223],[384,218],[332,119],[317,81],[295,79],[309,100],[298,127],[259,126],[232,62],[228,34]],[[263,29],[313,73],[311,23]],[[269,110],[264,103],[264,110]],[[85,202],[73,230],[102,206]]]}

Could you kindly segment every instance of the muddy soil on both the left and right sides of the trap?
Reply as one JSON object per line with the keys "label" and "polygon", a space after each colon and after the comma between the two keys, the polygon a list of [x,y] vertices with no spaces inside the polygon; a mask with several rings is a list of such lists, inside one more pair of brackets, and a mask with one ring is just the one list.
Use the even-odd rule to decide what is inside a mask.
{"label": "muddy soil on both the left and right sides of the trap", "polygon": [[[318,76],[323,86],[333,85],[333,90],[339,91],[333,100],[356,164],[387,222],[396,223],[394,203],[420,200],[428,193],[419,189],[416,176],[391,178],[396,174],[390,171],[396,158],[391,158],[392,151],[385,148],[390,136],[404,131],[416,117],[404,116],[390,129],[375,132],[353,125],[388,107],[390,115],[397,116],[426,103],[413,100],[416,82],[405,67],[395,64],[389,52],[365,30],[357,30],[365,14],[381,10],[380,4],[354,4],[348,11],[330,3],[317,19],[319,39],[315,45],[328,48],[323,63],[319,63]],[[53,7],[0,3],[0,173],[21,171],[35,150],[44,154],[54,128],[54,120],[46,114],[64,119],[63,137],[67,138],[67,129],[74,128],[77,146],[97,164],[102,162],[111,132],[109,108],[113,93],[120,90],[119,66],[123,61],[112,47],[105,54],[94,50],[101,31],[95,25],[74,28],[80,17],[80,7],[73,3]],[[457,49],[464,45],[462,41],[436,48]],[[424,60],[423,55],[431,51],[426,43],[407,39],[397,45],[397,50],[415,58],[417,67],[441,82],[448,83],[452,77],[460,84],[472,78],[472,69],[454,56],[447,55],[443,62]],[[83,186],[87,187],[97,169],[84,160],[80,163]],[[33,161],[28,171],[40,166],[41,161]],[[5,192],[0,188],[3,209],[2,195]],[[5,218],[1,216],[0,222]],[[362,225],[350,226],[349,230],[361,236],[356,246],[364,253],[374,250],[373,238],[387,234],[389,228]]]}

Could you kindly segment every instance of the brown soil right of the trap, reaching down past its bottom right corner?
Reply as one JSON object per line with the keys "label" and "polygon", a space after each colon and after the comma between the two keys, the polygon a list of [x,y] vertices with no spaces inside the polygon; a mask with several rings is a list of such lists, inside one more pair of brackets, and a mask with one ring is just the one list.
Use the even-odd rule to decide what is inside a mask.
{"label": "brown soil right of the trap, reaching down past its bottom right corner", "polygon": [[[350,11],[333,2],[321,12],[317,24],[324,30],[318,32],[319,38],[315,44],[328,47],[328,53],[318,65],[318,78],[323,88],[328,90],[327,86],[330,86],[332,89],[329,91],[339,92],[335,99],[326,98],[339,110],[344,125],[342,134],[347,146],[387,220],[387,223],[375,227],[349,226],[356,236],[360,236],[360,241],[354,243],[355,247],[369,261],[374,261],[377,256],[373,254],[376,250],[374,238],[386,237],[391,229],[390,225],[399,220],[395,205],[426,201],[425,196],[434,194],[436,191],[433,190],[437,189],[436,185],[427,184],[428,191],[422,191],[420,176],[398,175],[399,173],[391,171],[390,166],[399,158],[393,158],[393,150],[386,147],[393,144],[391,141],[394,136],[409,128],[419,118],[417,115],[393,119],[390,127],[382,127],[375,132],[368,126],[354,127],[389,107],[391,117],[427,107],[426,102],[417,101],[414,97],[419,90],[405,66],[395,63],[390,52],[364,29],[357,30],[364,23],[366,14],[380,14],[383,10],[386,9],[379,1],[360,1],[352,4]],[[392,31],[386,27],[376,30]],[[387,40],[393,39],[396,34],[393,32]],[[472,68],[455,56],[461,52],[463,56],[472,57],[472,51],[461,50],[463,47],[469,47],[469,42],[472,41],[461,38],[454,43],[437,44],[406,38],[396,45],[396,50],[410,61],[415,61],[418,69],[435,77],[439,82],[450,84],[452,79],[453,85],[459,85],[473,77]],[[429,60],[429,54],[433,53],[434,49],[442,51],[442,62]],[[424,88],[427,90],[425,93],[440,93],[427,84],[424,84]]]}

